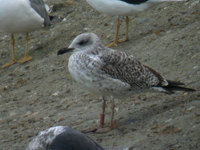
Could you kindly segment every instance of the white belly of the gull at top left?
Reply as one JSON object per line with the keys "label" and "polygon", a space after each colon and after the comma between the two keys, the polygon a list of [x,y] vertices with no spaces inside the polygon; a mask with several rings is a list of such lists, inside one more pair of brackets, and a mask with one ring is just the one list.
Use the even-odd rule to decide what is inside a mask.
{"label": "white belly of the gull at top left", "polygon": [[5,1],[0,5],[0,30],[8,33],[31,32],[43,27],[44,19],[26,0]]}

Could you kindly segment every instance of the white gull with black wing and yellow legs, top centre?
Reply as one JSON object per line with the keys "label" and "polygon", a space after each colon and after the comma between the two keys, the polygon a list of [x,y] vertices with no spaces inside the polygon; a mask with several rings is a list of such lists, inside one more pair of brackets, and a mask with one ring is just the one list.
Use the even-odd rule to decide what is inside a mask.
{"label": "white gull with black wing and yellow legs, top centre", "polygon": [[86,0],[97,11],[112,15],[112,16],[126,16],[126,36],[124,39],[119,40],[119,28],[120,28],[120,18],[117,20],[117,28],[115,39],[113,42],[107,45],[111,47],[118,44],[119,42],[124,42],[128,40],[128,26],[129,17],[134,15],[138,11],[143,11],[149,6],[156,5],[161,2],[172,2],[172,1],[185,1],[185,0]]}

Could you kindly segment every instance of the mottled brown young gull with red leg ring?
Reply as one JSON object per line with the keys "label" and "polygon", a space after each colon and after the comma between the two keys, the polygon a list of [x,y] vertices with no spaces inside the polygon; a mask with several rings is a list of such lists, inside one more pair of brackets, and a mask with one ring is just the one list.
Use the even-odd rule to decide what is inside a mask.
{"label": "mottled brown young gull with red leg ring", "polygon": [[104,124],[105,100],[97,132],[106,132],[113,127],[114,97],[120,98],[145,91],[173,93],[176,90],[194,91],[181,87],[181,82],[166,80],[152,68],[141,64],[133,55],[106,48],[94,33],[77,36],[68,48],[58,51],[58,55],[73,51],[68,69],[72,77],[90,91],[102,97],[111,97],[112,114],[109,128]]}

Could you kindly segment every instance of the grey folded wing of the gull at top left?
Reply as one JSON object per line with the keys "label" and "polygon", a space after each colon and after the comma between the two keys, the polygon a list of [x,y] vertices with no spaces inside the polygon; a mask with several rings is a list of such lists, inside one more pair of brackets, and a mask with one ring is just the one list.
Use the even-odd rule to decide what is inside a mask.
{"label": "grey folded wing of the gull at top left", "polygon": [[50,25],[50,18],[43,0],[29,0],[31,7],[44,19],[44,26]]}

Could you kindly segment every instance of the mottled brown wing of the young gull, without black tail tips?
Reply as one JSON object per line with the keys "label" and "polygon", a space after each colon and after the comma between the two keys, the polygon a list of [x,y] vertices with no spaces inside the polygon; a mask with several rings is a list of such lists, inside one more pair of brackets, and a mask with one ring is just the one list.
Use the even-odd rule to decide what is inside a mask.
{"label": "mottled brown wing of the young gull, without black tail tips", "polygon": [[142,65],[132,55],[119,51],[104,52],[107,54],[99,56],[104,62],[101,69],[114,79],[126,82],[136,89],[159,86],[165,81],[159,73]]}

